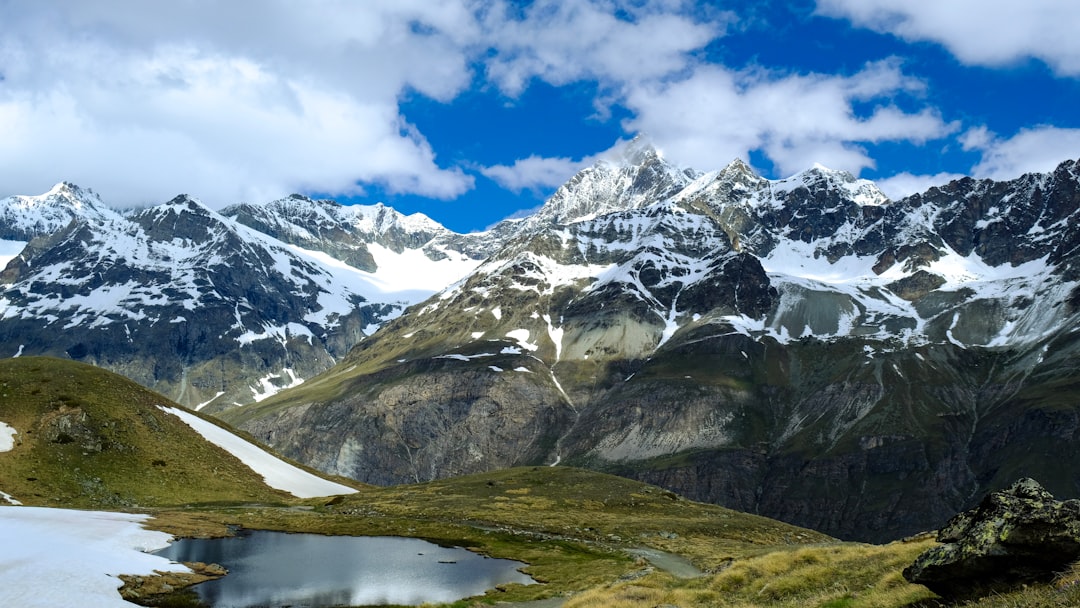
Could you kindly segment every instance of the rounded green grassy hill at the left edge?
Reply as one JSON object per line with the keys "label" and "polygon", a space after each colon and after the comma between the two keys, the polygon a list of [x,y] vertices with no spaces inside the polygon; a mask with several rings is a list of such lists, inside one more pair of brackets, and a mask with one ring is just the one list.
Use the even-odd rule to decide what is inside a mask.
{"label": "rounded green grassy hill at the left edge", "polygon": [[165,397],[70,361],[0,361],[0,490],[24,504],[130,508],[287,500],[232,455],[157,406]]}

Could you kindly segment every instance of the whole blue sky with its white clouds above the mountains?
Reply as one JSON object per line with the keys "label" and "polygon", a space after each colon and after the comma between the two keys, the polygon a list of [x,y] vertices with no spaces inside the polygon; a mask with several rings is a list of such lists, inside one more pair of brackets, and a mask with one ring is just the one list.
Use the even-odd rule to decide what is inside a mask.
{"label": "whole blue sky with its white clouds above the mountains", "polygon": [[0,0],[0,195],[292,192],[458,231],[645,133],[890,195],[1080,157],[1068,0]]}

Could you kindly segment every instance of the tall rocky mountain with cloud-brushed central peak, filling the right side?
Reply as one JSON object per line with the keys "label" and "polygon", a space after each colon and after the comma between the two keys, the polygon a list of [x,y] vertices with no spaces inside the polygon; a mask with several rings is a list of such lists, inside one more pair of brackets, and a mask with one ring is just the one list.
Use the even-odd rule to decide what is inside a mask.
{"label": "tall rocky mountain with cloud-brushed central peak, filling the right side", "polygon": [[[647,147],[303,387],[226,417],[373,483],[576,463],[894,538],[1080,495],[1080,168],[902,201]],[[605,189],[606,188],[606,189]]]}

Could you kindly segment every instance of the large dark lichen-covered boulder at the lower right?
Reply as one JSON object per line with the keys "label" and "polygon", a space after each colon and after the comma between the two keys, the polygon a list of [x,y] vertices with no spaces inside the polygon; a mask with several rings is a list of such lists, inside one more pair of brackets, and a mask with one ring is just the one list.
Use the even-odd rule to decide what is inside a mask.
{"label": "large dark lichen-covered boulder at the lower right", "polygon": [[1024,478],[953,517],[937,541],[904,569],[904,578],[944,597],[1049,581],[1080,558],[1080,500],[1055,500]]}

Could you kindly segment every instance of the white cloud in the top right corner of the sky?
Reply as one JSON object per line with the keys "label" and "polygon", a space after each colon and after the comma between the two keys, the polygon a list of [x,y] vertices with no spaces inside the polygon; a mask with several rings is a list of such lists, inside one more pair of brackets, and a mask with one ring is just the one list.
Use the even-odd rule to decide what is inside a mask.
{"label": "white cloud in the top right corner of the sky", "polygon": [[1069,0],[818,0],[818,12],[941,43],[967,64],[1035,57],[1062,75],[1080,76],[1080,3]]}

